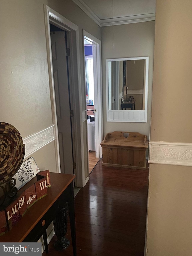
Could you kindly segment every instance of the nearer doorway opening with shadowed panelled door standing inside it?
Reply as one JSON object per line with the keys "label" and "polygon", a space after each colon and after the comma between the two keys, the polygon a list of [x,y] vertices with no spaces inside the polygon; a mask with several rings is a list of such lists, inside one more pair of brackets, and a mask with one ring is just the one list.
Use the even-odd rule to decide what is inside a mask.
{"label": "nearer doorway opening with shadowed panelled door standing inside it", "polygon": [[51,23],[49,27],[61,173],[74,174],[73,148],[75,145],[73,145],[74,124],[71,114],[73,101],[70,89],[69,35],[67,31]]}

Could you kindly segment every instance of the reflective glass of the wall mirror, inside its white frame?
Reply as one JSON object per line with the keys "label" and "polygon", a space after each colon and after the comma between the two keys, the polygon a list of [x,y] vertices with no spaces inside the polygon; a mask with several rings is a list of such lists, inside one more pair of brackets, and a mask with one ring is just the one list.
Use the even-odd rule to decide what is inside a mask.
{"label": "reflective glass of the wall mirror, inside its white frame", "polygon": [[145,110],[146,59],[108,61],[109,110]]}

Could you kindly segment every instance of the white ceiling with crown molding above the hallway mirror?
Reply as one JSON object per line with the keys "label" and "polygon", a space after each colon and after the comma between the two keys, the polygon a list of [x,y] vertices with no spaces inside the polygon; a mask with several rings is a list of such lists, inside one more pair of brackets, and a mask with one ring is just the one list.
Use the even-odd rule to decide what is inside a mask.
{"label": "white ceiling with crown molding above the hallway mirror", "polygon": [[155,20],[156,0],[73,0],[99,26]]}

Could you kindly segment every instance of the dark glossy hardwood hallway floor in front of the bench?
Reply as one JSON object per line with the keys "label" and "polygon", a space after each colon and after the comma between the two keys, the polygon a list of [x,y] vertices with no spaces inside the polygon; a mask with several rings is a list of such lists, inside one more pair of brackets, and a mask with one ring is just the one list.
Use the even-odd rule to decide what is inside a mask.
{"label": "dark glossy hardwood hallway floor in front of the bench", "polygon": [[[143,256],[149,169],[103,167],[101,162],[75,197],[77,255]],[[66,237],[71,241],[70,224]],[[55,251],[54,240],[49,256],[73,255],[71,244]]]}

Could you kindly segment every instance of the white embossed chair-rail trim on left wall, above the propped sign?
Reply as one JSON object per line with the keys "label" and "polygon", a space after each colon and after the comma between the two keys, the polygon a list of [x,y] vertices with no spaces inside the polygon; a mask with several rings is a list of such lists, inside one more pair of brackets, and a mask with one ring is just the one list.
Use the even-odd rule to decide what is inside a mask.
{"label": "white embossed chair-rail trim on left wall, above the propped sign", "polygon": [[51,125],[50,127],[38,131],[28,137],[23,139],[23,143],[25,144],[25,157],[24,160],[27,159],[30,155],[37,152],[39,149],[49,144],[50,142],[55,140],[55,125]]}

